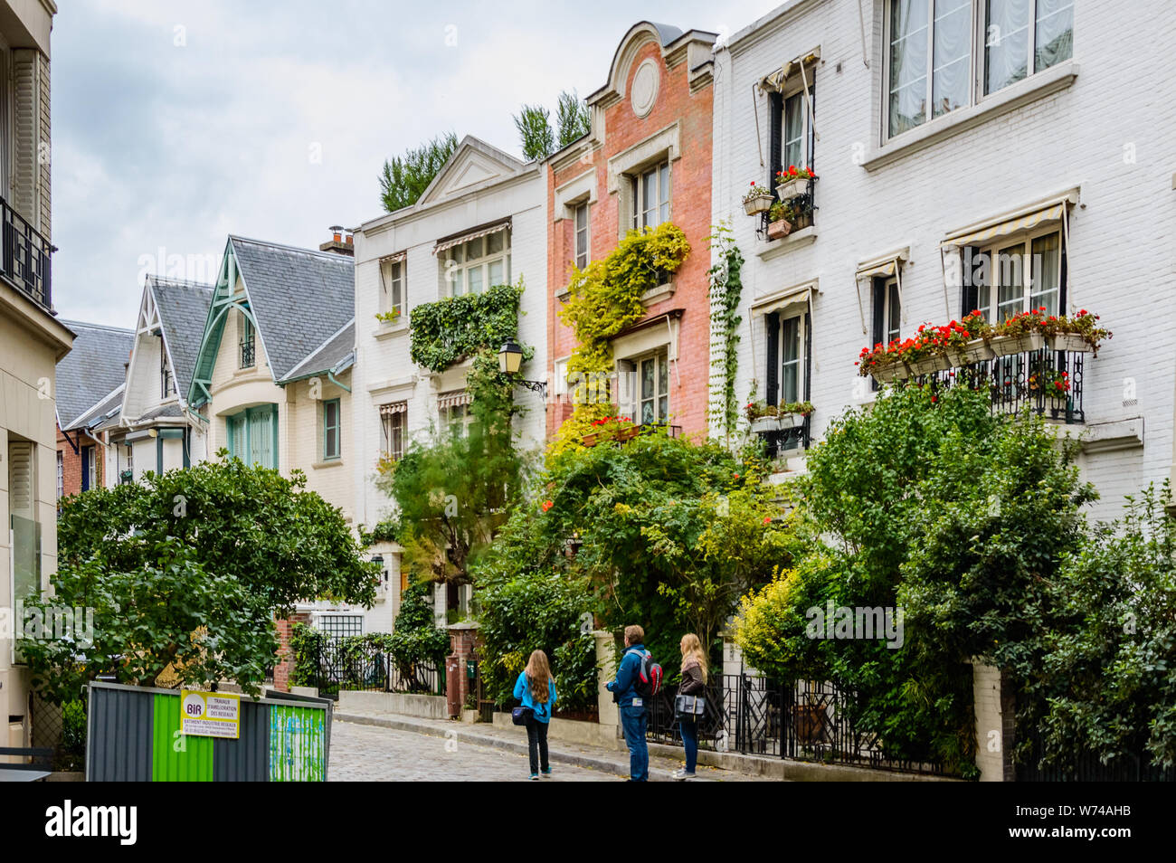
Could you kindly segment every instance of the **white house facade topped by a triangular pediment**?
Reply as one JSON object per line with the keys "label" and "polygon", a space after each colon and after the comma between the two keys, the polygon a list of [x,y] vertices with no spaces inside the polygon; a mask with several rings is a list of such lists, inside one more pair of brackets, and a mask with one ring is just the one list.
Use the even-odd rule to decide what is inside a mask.
{"label": "white house facade topped by a triangular pediment", "polygon": [[[375,486],[380,459],[395,459],[410,441],[468,422],[469,360],[440,373],[414,364],[408,326],[414,308],[521,279],[519,342],[535,353],[520,377],[544,376],[546,201],[540,162],[523,163],[467,136],[416,203],[355,230],[355,514],[368,528],[393,509]],[[524,408],[515,420],[520,446],[542,446],[543,399],[519,387],[515,401]],[[393,573],[399,574],[399,546],[373,550],[395,561]],[[468,598],[446,598],[441,591],[439,617],[447,606]]]}

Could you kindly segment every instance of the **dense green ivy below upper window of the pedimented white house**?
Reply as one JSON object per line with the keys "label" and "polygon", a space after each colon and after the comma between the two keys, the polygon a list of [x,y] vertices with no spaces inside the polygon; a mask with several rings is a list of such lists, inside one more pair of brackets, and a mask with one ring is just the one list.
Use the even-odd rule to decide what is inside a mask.
{"label": "dense green ivy below upper window of the pedimented white house", "polygon": [[443,372],[480,348],[497,352],[519,334],[523,283],[495,285],[481,294],[461,294],[416,306],[409,316],[412,359],[430,372]]}

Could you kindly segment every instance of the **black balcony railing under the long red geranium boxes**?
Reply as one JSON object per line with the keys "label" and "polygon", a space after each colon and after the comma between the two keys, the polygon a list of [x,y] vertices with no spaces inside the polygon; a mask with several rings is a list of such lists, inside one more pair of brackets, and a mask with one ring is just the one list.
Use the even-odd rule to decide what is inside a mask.
{"label": "black balcony railing under the long red geranium boxes", "polygon": [[911,380],[931,387],[988,390],[997,413],[1017,414],[1028,408],[1047,420],[1081,423],[1085,422],[1083,356],[1077,352],[1042,348],[916,375]]}

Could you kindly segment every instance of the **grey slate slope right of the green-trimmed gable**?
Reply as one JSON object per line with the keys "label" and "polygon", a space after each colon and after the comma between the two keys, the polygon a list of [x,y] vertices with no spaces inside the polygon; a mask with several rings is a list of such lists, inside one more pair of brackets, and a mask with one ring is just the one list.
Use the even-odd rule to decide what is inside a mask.
{"label": "grey slate slope right of the green-trimmed gable", "polygon": [[230,235],[229,242],[270,372],[280,381],[355,317],[355,261],[241,236]]}

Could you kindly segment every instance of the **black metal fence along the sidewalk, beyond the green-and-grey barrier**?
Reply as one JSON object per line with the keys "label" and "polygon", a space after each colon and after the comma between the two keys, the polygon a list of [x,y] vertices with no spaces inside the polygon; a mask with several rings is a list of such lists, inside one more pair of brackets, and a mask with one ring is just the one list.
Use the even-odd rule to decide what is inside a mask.
{"label": "black metal fence along the sidewalk, beyond the green-and-grey barrier", "polygon": [[414,662],[401,667],[374,644],[321,638],[315,650],[314,682],[319,695],[339,701],[342,689],[368,693],[445,695],[445,664]]}

